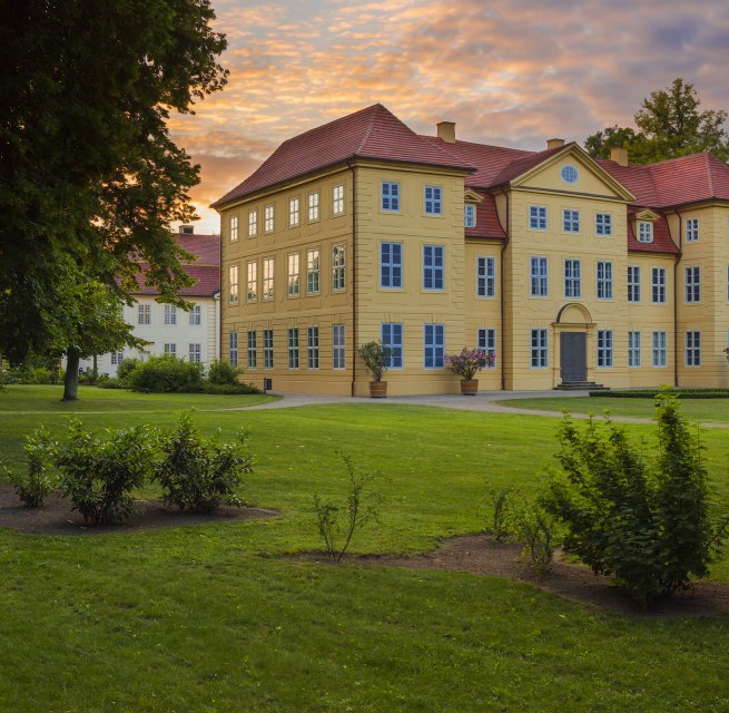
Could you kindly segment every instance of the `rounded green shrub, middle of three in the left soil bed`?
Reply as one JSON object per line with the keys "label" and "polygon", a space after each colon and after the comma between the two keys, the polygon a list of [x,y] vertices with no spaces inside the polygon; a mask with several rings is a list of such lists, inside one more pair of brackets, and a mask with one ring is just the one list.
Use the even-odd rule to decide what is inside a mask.
{"label": "rounded green shrub, middle of three in the left soil bed", "polygon": [[90,525],[115,525],[132,512],[129,494],[144,485],[151,465],[145,427],[108,430],[101,439],[69,423],[69,441],[58,455],[60,490]]}

